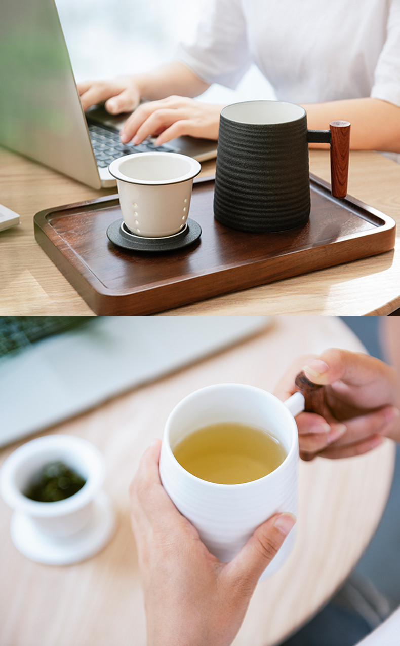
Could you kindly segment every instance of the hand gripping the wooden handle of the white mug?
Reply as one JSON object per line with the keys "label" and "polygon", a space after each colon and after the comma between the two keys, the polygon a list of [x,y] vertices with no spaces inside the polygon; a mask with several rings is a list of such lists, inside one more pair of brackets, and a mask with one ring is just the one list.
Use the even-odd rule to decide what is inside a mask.
{"label": "hand gripping the wooden handle of the white mug", "polygon": [[400,441],[400,382],[393,368],[364,353],[327,349],[292,363],[275,388],[279,399],[295,392],[301,370],[325,386],[321,414],[296,417],[303,459],[352,457],[379,446],[383,437]]}

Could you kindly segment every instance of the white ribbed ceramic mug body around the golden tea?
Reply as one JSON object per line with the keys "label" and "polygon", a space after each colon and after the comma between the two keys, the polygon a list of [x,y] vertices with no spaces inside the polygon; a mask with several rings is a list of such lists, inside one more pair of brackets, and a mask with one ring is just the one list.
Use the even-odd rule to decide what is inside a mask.
{"label": "white ribbed ceramic mug body around the golden tea", "polygon": [[[220,561],[232,560],[255,528],[275,512],[297,516],[299,443],[294,415],[303,409],[301,393],[283,403],[254,386],[216,384],[188,395],[170,413],[161,446],[161,482],[177,509]],[[265,477],[239,485],[210,483],[187,472],[175,459],[174,446],[188,433],[224,421],[268,430],[285,448],[283,463]],[[294,539],[295,528],[262,578],[283,565]]]}

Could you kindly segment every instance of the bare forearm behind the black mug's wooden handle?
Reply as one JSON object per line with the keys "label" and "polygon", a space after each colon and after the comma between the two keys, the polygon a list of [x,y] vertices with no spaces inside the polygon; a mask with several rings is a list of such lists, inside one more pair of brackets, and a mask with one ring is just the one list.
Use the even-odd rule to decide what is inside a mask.
{"label": "bare forearm behind the black mug's wooden handle", "polygon": [[[350,121],[353,150],[400,152],[400,107],[393,103],[365,98],[310,103],[303,107],[311,129],[327,129],[330,121]],[[324,144],[312,146],[325,147]]]}

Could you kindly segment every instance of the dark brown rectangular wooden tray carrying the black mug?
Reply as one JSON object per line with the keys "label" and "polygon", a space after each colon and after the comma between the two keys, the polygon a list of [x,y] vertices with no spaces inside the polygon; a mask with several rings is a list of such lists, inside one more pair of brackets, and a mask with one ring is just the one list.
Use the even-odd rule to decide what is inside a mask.
{"label": "dark brown rectangular wooden tray carrying the black mug", "polygon": [[395,222],[310,177],[305,227],[241,233],[214,220],[214,181],[194,185],[189,216],[203,233],[181,251],[123,251],[106,237],[121,218],[117,195],[40,211],[35,238],[97,314],[151,314],[393,249]]}

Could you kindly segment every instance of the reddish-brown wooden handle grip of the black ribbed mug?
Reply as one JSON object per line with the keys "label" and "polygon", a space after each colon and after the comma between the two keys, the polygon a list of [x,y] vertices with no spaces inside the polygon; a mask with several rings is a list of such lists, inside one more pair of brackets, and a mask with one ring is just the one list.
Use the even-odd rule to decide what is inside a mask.
{"label": "reddish-brown wooden handle grip of the black ribbed mug", "polygon": [[335,198],[347,195],[350,123],[332,121],[330,127],[330,183]]}

